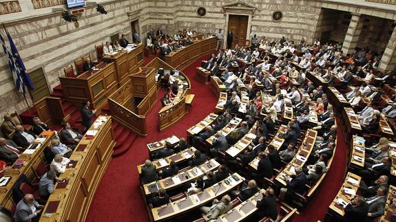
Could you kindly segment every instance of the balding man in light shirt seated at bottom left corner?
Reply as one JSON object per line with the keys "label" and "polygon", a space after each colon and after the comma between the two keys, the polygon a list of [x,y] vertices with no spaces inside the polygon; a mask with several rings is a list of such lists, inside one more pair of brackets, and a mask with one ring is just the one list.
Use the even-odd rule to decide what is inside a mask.
{"label": "balding man in light shirt seated at bottom left corner", "polygon": [[38,215],[41,214],[43,208],[44,206],[39,205],[39,203],[34,200],[33,195],[27,194],[17,204],[14,219],[15,221],[39,221]]}

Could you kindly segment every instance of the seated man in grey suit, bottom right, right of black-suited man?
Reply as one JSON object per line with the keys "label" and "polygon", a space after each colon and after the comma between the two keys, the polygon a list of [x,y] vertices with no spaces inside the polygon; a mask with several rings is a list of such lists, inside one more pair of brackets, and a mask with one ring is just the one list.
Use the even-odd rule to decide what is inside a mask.
{"label": "seated man in grey suit, bottom right, right of black-suited man", "polygon": [[386,188],[379,187],[377,189],[377,194],[373,197],[368,197],[366,199],[366,203],[368,204],[368,213],[367,217],[370,220],[374,220],[377,217],[381,217],[385,212],[385,203],[386,203]]}

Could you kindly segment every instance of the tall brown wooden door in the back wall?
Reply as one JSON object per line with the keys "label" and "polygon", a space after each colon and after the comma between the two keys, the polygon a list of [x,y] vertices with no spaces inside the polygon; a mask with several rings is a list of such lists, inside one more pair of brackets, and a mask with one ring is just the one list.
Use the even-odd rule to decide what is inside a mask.
{"label": "tall brown wooden door in the back wall", "polygon": [[244,45],[247,39],[247,23],[249,16],[230,14],[228,18],[228,30],[233,33],[233,41],[231,47],[235,47],[236,44],[239,46]]}

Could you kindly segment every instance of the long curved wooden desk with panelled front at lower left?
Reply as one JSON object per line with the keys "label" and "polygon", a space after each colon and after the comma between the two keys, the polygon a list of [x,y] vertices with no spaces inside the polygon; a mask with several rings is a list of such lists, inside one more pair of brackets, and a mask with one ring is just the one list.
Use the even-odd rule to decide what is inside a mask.
{"label": "long curved wooden desk with panelled front at lower left", "polygon": [[[99,116],[90,131],[94,129],[97,130],[94,137],[84,135],[74,150],[70,159],[76,161],[76,164],[68,166],[67,171],[70,172],[60,176],[67,180],[67,184],[56,183],[55,191],[50,195],[40,221],[85,221],[96,188],[112,159],[116,143],[110,116]],[[59,205],[54,207],[56,203]],[[52,214],[45,217],[46,212]]]}

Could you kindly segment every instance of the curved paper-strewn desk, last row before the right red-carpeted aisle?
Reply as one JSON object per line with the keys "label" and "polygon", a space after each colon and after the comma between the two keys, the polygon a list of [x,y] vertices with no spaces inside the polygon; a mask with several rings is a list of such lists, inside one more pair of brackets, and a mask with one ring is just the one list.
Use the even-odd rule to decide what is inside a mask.
{"label": "curved paper-strewn desk, last row before the right red-carpeted aisle", "polygon": [[277,177],[275,177],[275,181],[282,184],[283,186],[286,186],[284,176],[295,175],[295,167],[300,166],[302,168],[302,166],[304,166],[309,155],[311,155],[313,146],[315,146],[316,136],[317,131],[314,131],[312,129],[308,129],[306,131],[306,135],[304,137],[302,145],[298,149],[298,153],[296,153],[291,162],[289,162],[289,164],[284,167],[284,170],[282,170],[282,172],[279,173]]}

